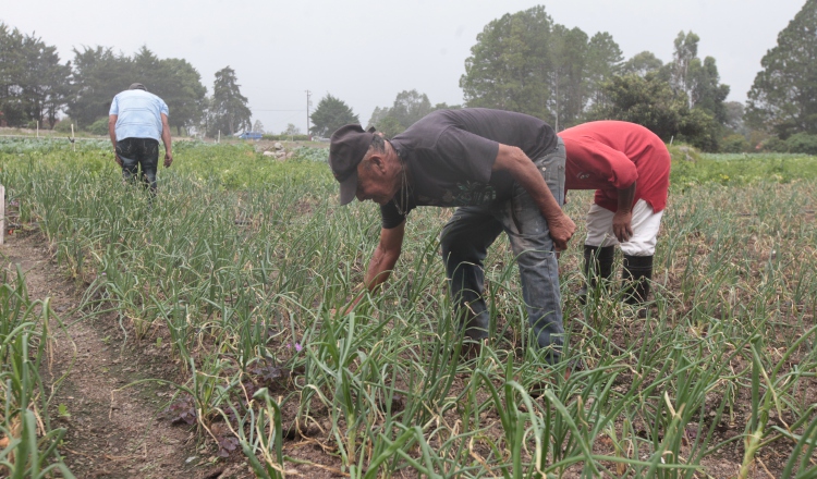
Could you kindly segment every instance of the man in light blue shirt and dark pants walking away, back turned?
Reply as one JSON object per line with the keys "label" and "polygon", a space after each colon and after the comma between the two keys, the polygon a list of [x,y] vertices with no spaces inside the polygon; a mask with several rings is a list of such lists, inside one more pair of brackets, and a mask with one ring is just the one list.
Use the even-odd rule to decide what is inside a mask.
{"label": "man in light blue shirt and dark pants walking away, back turned", "polygon": [[156,195],[156,170],[159,164],[159,138],[164,144],[164,168],[173,162],[168,124],[168,106],[145,85],[134,83],[111,102],[108,133],[113,144],[117,163],[122,176],[129,181],[139,177],[150,193]]}

